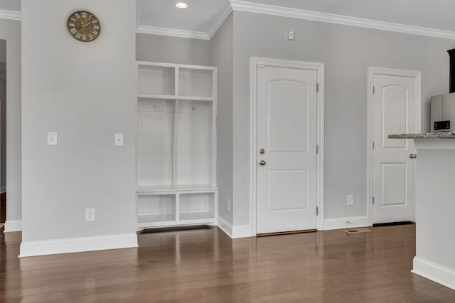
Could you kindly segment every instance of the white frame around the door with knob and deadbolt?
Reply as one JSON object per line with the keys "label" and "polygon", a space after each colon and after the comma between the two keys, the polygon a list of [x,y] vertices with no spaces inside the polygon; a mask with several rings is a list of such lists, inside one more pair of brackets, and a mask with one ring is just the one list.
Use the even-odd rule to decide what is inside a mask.
{"label": "white frame around the door with knob and deadbolt", "polygon": [[316,217],[316,228],[323,229],[324,222],[324,64],[294,60],[279,60],[262,57],[250,58],[250,215],[251,235],[257,235],[257,67],[288,67],[301,70],[316,70],[319,92],[316,94],[317,108],[317,145],[316,154],[316,207],[319,215]]}

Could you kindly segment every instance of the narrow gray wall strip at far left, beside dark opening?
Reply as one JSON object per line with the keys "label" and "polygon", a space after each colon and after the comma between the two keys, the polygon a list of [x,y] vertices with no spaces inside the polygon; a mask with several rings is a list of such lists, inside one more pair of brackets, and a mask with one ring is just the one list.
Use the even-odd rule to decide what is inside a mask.
{"label": "narrow gray wall strip at far left, beside dark opening", "polygon": [[[21,22],[0,20],[0,39],[6,40],[6,226],[17,230],[21,220]],[[19,226],[20,227],[20,226]]]}

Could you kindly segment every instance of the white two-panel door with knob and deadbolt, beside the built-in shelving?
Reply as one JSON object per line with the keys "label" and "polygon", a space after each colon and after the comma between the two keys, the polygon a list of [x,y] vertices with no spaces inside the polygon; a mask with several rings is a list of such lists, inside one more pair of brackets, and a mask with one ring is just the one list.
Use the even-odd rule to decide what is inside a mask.
{"label": "white two-panel door with knob and deadbolt, beside the built-in shelving", "polygon": [[316,228],[316,83],[316,70],[257,69],[257,233]]}

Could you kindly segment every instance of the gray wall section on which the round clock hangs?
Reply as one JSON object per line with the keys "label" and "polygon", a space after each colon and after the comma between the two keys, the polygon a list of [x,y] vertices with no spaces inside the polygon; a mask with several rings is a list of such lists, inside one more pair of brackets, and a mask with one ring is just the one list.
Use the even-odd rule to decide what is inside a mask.
{"label": "gray wall section on which the round clock hangs", "polygon": [[[65,28],[81,7],[102,25],[90,43]],[[135,10],[124,0],[22,1],[23,243],[136,231]],[[46,145],[49,131],[57,146]]]}

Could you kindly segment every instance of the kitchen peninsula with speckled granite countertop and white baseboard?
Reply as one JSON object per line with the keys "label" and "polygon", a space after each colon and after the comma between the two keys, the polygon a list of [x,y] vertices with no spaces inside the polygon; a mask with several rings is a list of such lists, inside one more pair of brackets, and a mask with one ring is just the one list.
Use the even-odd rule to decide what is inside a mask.
{"label": "kitchen peninsula with speckled granite countertop and white baseboard", "polygon": [[416,153],[417,275],[455,290],[455,133],[413,133]]}

